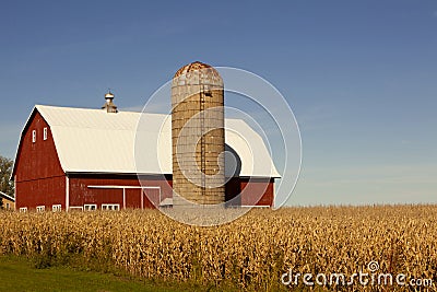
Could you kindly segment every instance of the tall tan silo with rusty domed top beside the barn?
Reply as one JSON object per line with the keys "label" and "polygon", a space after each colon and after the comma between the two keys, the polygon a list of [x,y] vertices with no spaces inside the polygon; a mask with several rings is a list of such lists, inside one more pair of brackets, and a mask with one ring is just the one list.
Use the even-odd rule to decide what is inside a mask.
{"label": "tall tan silo with rusty domed top beside the barn", "polygon": [[172,83],[174,206],[225,200],[224,89],[218,72],[192,62]]}

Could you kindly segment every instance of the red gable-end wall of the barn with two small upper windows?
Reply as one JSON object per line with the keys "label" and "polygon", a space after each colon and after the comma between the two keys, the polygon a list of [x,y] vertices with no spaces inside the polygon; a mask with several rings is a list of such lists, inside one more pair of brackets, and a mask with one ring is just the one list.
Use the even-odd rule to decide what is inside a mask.
{"label": "red gable-end wall of the barn with two small upper windows", "polygon": [[[44,140],[44,128],[47,128],[47,140]],[[32,132],[36,130],[36,142]],[[15,197],[16,209],[22,207],[35,209],[52,205],[66,208],[66,177],[59,163],[49,125],[35,112],[23,133],[15,161]]]}

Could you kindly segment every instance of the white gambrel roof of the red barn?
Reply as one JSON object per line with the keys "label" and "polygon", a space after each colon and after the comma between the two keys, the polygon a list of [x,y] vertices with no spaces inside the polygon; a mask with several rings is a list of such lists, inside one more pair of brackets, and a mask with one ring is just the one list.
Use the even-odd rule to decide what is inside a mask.
{"label": "white gambrel roof of the red barn", "polygon": [[[36,105],[66,173],[172,174],[169,115]],[[280,177],[262,138],[244,120],[225,120],[240,176]],[[226,166],[232,160],[226,157]]]}

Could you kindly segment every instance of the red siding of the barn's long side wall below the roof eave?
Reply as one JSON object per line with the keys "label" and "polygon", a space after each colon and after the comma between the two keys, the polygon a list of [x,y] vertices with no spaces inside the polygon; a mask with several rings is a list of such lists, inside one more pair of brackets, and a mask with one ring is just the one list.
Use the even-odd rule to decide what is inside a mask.
{"label": "red siding of the barn's long side wall below the roof eave", "polygon": [[[250,183],[249,183],[250,180]],[[161,201],[173,197],[172,178],[149,176],[142,178],[141,186],[161,187]],[[232,178],[226,184],[226,201],[228,206],[273,206],[273,179],[270,178]],[[120,188],[90,188],[88,186],[133,186],[140,183],[135,175],[85,175],[69,176],[70,207],[83,207],[95,203],[97,209],[103,203],[117,203],[120,209],[126,208],[155,208],[160,203],[160,192],[156,189],[123,189]],[[146,192],[146,194],[144,194]],[[238,196],[238,194],[240,194]],[[150,201],[152,199],[154,203]]]}

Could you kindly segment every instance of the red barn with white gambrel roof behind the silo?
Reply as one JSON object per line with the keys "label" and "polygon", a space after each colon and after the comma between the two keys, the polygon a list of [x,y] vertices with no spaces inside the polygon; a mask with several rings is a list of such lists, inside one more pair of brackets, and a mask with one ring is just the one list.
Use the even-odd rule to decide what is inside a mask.
{"label": "red barn with white gambrel roof behind the silo", "polygon": [[[225,124],[227,203],[273,206],[279,174],[262,138],[243,120]],[[21,211],[172,206],[170,116],[37,105],[12,177]]]}

